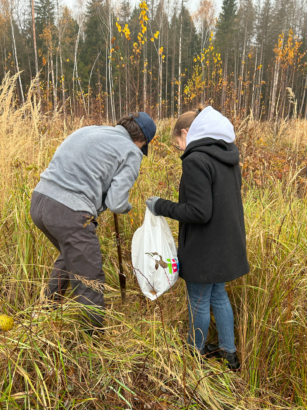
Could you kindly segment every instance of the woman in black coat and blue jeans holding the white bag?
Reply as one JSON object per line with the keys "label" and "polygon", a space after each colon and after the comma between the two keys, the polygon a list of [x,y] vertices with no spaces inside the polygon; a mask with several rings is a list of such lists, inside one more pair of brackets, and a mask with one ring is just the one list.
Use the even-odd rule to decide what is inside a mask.
{"label": "woman in black coat and blue jeans holding the white bag", "polygon": [[[239,150],[233,125],[211,106],[181,115],[174,137],[184,151],[179,202],[150,197],[155,215],[179,221],[179,276],[187,286],[188,341],[201,355],[226,358],[239,368],[233,310],[225,282],[249,272],[241,197]],[[205,344],[214,314],[219,345]]]}

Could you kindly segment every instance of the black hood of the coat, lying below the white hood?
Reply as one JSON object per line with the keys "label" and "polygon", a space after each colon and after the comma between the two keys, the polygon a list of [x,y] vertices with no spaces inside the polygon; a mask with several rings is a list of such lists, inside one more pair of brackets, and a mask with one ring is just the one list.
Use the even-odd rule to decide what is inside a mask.
{"label": "black hood of the coat, lying below the white hood", "polygon": [[240,162],[237,146],[233,143],[227,143],[222,139],[202,138],[197,141],[192,141],[185,149],[184,154],[181,155],[181,159],[185,159],[185,157],[195,151],[210,155],[210,157],[228,166],[235,166]]}

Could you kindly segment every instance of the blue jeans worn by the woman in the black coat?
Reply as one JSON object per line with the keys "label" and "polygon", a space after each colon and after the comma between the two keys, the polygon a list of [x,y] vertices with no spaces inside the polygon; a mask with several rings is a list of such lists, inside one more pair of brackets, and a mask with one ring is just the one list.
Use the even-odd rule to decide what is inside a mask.
{"label": "blue jeans worn by the woman in the black coat", "polygon": [[190,319],[189,344],[199,351],[204,347],[210,325],[211,305],[219,335],[219,348],[234,353],[236,348],[233,333],[233,309],[225,290],[225,282],[185,283]]}

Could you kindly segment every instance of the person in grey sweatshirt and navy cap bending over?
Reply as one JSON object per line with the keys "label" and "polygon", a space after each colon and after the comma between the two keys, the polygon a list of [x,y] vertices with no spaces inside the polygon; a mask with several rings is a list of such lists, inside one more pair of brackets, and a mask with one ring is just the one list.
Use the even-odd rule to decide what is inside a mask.
{"label": "person in grey sweatshirt and navy cap bending over", "polygon": [[[88,333],[103,327],[104,316],[104,271],[96,218],[107,208],[116,214],[132,209],[129,189],[155,133],[155,123],[144,112],[123,116],[116,127],[80,128],[57,148],[33,191],[32,220],[60,252],[46,297],[53,304],[61,302],[70,280],[74,296],[90,318]],[[101,291],[86,286],[92,280]]]}

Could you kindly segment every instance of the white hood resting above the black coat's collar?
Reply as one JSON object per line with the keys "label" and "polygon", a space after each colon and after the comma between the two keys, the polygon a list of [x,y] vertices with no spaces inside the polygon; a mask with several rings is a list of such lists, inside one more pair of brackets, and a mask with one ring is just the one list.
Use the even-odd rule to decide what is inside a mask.
{"label": "white hood resting above the black coat's collar", "polygon": [[235,141],[233,124],[209,105],[192,122],[187,133],[187,146],[190,142],[202,138],[222,139],[228,143],[233,142]]}

